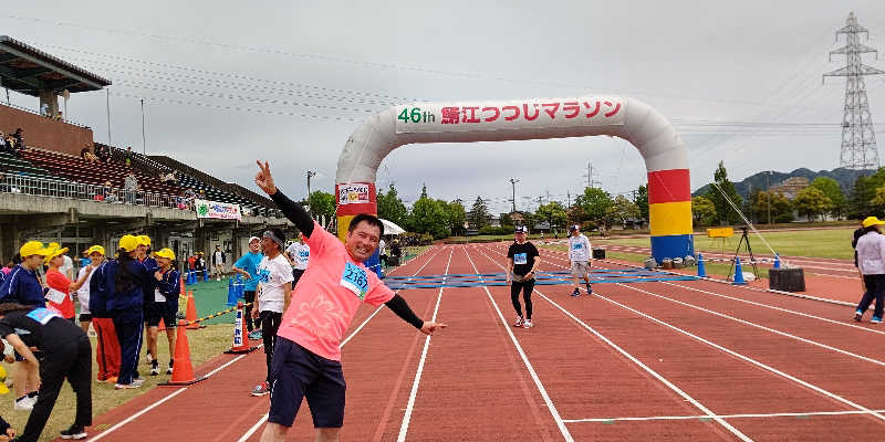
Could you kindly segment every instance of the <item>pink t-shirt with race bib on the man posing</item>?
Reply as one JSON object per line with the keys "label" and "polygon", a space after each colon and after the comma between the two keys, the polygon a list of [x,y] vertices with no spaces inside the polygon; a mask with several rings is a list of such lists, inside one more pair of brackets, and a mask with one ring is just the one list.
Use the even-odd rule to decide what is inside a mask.
{"label": "pink t-shirt with race bib on the man posing", "polygon": [[394,292],[363,263],[353,261],[344,244],[315,223],[308,239],[311,265],[292,292],[277,336],[326,359],[341,360],[341,339],[362,303],[378,306]]}

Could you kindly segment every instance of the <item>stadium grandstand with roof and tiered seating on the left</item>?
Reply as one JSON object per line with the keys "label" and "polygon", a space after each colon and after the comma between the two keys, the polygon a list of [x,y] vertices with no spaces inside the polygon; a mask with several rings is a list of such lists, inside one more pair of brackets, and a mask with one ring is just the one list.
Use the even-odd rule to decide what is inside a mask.
{"label": "stadium grandstand with roof and tiered seating on the left", "polygon": [[[41,112],[0,104],[0,131],[23,130],[20,155],[0,152],[0,265],[27,240],[59,242],[72,254],[92,244],[115,250],[126,233],[145,233],[177,255],[221,245],[242,253],[253,232],[291,228],[269,199],[227,183],[170,157],[147,157],[95,143],[87,125],[60,117],[58,98],[98,91],[111,82],[35,48],[0,36],[0,83],[39,97]],[[107,148],[107,161],[80,156],[84,146]],[[174,173],[164,182],[160,175]],[[133,173],[138,188],[125,188]],[[239,219],[195,210],[233,204]],[[231,207],[231,206],[228,206]]]}

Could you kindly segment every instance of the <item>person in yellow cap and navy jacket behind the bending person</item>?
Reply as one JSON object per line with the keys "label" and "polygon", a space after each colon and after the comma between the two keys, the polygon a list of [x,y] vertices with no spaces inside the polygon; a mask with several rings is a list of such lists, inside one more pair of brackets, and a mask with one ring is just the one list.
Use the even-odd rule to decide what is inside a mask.
{"label": "person in yellow cap and navy jacket behind the bending person", "polygon": [[[21,263],[12,269],[7,281],[0,286],[0,303],[18,303],[34,307],[45,307],[43,284],[37,276],[37,270],[43,266],[43,260],[50,250],[40,241],[28,241],[19,249]],[[37,389],[40,386],[38,366],[28,362],[15,352],[13,370],[15,410],[30,410],[37,402]]]}

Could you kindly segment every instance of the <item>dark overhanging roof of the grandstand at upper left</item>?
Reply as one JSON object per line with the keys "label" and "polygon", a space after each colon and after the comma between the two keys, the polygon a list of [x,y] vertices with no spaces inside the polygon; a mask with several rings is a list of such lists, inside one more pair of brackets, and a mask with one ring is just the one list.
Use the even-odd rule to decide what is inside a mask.
{"label": "dark overhanging roof of the grandstand at upper left", "polygon": [[98,91],[110,86],[111,81],[8,35],[0,35],[0,84],[22,94],[40,96],[41,91]]}

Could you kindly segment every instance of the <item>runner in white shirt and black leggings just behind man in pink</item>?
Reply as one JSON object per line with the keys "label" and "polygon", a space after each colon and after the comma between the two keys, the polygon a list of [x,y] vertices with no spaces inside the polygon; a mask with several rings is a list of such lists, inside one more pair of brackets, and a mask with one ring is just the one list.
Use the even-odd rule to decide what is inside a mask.
{"label": "runner in white shirt and black leggings just behind man in pink", "polygon": [[270,393],[271,358],[277,344],[277,329],[283,319],[283,312],[289,308],[292,298],[292,267],[281,253],[285,244],[283,231],[268,229],[261,238],[264,257],[258,264],[258,291],[252,309],[252,318],[261,317],[261,337],[264,340],[264,356],[268,362],[268,377],[253,390],[252,396]]}

